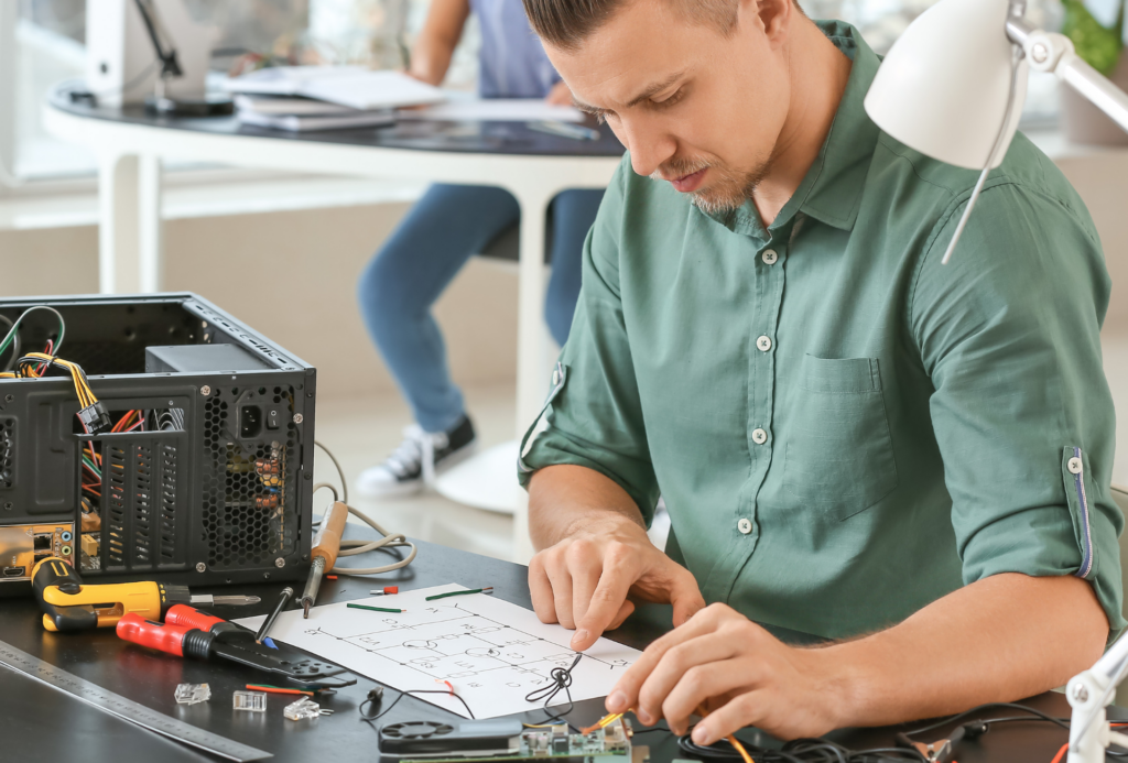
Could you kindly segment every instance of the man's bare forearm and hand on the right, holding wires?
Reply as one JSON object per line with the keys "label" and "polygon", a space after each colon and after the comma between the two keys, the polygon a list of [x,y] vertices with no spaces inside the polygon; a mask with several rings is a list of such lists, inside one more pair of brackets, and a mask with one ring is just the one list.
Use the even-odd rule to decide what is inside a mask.
{"label": "man's bare forearm and hand on the right, holding wires", "polygon": [[607,697],[610,712],[666,718],[694,742],[744,726],[783,739],[934,718],[1058,686],[1101,655],[1109,621],[1073,576],[1002,573],[953,591],[888,630],[790,647],[723,604],[652,644]]}

